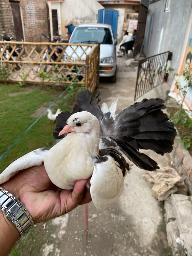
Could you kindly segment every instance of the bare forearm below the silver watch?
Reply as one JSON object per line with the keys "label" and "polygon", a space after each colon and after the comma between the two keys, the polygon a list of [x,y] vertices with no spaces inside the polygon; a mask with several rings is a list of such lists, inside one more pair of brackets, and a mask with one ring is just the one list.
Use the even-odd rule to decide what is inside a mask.
{"label": "bare forearm below the silver watch", "polygon": [[7,219],[5,213],[0,210],[0,241],[1,256],[6,256],[20,235],[14,224]]}

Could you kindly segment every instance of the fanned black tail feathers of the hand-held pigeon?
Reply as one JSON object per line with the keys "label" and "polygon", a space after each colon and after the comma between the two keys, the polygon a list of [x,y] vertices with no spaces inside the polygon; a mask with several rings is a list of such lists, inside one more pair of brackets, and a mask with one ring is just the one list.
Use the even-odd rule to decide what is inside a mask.
{"label": "fanned black tail feathers of the hand-held pigeon", "polygon": [[164,100],[143,99],[122,110],[115,119],[109,113],[103,113],[100,106],[99,95],[92,98],[89,91],[82,91],[77,96],[77,103],[73,112],[62,112],[56,118],[57,127],[53,132],[55,139],[59,132],[67,124],[67,119],[73,113],[88,111],[96,116],[100,122],[101,136],[115,141],[124,154],[138,167],[145,170],[158,169],[157,163],[147,155],[140,153],[139,149],[151,149],[164,155],[172,151],[172,145],[176,136],[174,124],[164,114]]}

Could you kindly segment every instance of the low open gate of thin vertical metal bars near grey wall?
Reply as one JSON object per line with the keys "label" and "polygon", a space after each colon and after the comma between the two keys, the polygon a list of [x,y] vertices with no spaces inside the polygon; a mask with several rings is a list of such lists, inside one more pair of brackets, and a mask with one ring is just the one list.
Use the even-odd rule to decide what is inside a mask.
{"label": "low open gate of thin vertical metal bars near grey wall", "polygon": [[172,59],[172,52],[163,52],[139,60],[134,100],[146,92],[163,84],[166,78],[167,61]]}

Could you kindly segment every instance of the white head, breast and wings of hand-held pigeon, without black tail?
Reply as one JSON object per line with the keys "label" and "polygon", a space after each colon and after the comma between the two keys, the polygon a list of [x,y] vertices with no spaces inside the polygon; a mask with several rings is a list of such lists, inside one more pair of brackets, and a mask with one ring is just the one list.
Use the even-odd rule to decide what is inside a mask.
{"label": "white head, breast and wings of hand-held pigeon, without black tail", "polygon": [[[67,136],[52,148],[39,148],[10,164],[0,174],[0,184],[16,172],[43,162],[52,183],[62,189],[72,189],[76,180],[87,179],[93,174],[92,201],[97,210],[102,211],[121,196],[125,173],[108,154],[99,156],[100,124],[96,116],[87,111],[71,115],[59,136],[66,133]],[[120,156],[116,149],[112,151]]]}

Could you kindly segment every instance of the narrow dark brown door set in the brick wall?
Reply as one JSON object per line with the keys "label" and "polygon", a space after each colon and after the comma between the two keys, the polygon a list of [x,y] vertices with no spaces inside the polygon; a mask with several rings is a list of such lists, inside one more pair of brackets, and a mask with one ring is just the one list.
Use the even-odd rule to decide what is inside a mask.
{"label": "narrow dark brown door set in the brick wall", "polygon": [[10,4],[11,4],[13,23],[15,28],[15,37],[18,40],[21,40],[23,39],[23,29],[22,29],[22,23],[21,23],[20,5],[19,3],[16,3],[16,2],[10,2]]}

